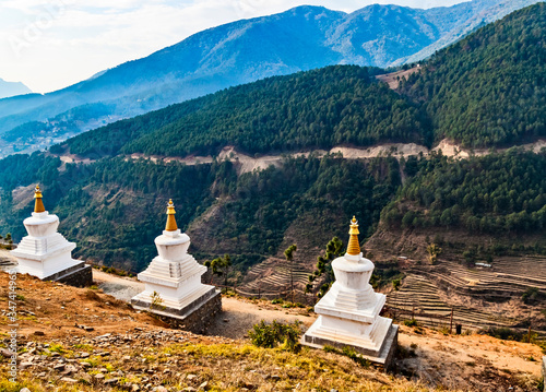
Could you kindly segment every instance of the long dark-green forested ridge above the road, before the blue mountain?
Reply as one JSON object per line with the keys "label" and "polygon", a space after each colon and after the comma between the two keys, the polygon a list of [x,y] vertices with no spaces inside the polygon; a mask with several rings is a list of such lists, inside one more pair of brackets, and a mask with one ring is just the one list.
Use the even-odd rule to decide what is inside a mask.
{"label": "long dark-green forested ridge above the road, before the blue mountain", "polygon": [[[336,66],[270,78],[71,139],[72,154],[217,154],[430,142],[417,105],[375,81],[377,69]],[[58,152],[59,147],[52,149]]]}

